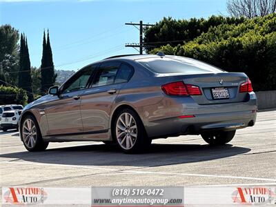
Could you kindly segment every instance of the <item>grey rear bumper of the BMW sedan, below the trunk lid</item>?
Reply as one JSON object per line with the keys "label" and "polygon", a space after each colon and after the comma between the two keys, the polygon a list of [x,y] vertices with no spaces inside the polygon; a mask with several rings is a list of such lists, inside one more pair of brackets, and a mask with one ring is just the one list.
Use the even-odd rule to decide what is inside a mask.
{"label": "grey rear bumper of the BMW sedan, below the trunk lid", "polygon": [[[177,116],[174,117],[151,121],[146,125],[149,137],[198,135],[208,130],[235,130],[253,126],[257,117],[257,99],[254,92],[250,93],[250,99],[246,102],[198,105],[190,101],[177,107],[181,115],[195,117],[181,119],[181,115],[176,113]],[[175,108],[171,110],[177,111]]]}

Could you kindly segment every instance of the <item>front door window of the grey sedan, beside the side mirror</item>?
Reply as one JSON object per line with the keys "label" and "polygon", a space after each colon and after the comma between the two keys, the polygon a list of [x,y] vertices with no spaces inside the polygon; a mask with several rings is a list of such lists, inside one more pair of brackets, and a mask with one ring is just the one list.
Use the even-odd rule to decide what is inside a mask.
{"label": "front door window of the grey sedan, beside the side mirror", "polygon": [[63,92],[73,92],[86,88],[92,71],[96,66],[88,66],[77,72],[63,87]]}

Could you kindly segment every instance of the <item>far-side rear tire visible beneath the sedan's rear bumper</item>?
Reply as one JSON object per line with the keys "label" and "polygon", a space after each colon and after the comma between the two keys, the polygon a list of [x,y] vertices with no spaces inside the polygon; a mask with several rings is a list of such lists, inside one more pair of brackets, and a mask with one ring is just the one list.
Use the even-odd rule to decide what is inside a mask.
{"label": "far-side rear tire visible beneath the sedan's rear bumper", "polygon": [[223,145],[233,139],[235,132],[236,130],[206,132],[201,137],[210,145]]}

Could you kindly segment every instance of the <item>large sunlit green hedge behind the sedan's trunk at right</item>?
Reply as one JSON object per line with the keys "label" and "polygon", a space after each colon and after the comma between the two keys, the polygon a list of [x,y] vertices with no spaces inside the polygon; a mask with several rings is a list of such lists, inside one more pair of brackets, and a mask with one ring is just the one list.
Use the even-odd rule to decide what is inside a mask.
{"label": "large sunlit green hedge behind the sedan's trunk at right", "polygon": [[245,72],[255,91],[276,89],[276,14],[210,26],[193,41],[161,46],[150,53],[159,50],[206,61],[228,72]]}

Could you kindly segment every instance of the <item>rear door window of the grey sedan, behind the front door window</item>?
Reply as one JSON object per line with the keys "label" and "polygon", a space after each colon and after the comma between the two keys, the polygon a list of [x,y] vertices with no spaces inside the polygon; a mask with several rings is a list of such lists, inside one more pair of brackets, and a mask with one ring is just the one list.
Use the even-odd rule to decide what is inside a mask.
{"label": "rear door window of the grey sedan, behind the front door window", "polygon": [[103,63],[97,72],[92,87],[107,86],[113,84],[120,63]]}

